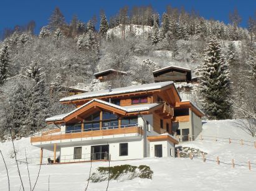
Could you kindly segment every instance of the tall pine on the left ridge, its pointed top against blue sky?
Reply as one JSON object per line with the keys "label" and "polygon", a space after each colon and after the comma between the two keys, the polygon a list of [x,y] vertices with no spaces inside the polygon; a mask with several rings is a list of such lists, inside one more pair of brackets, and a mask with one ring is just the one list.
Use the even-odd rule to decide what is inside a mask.
{"label": "tall pine on the left ridge, its pointed top against blue sky", "polygon": [[65,24],[65,17],[62,12],[60,12],[59,7],[56,7],[49,19],[49,29],[56,30]]}

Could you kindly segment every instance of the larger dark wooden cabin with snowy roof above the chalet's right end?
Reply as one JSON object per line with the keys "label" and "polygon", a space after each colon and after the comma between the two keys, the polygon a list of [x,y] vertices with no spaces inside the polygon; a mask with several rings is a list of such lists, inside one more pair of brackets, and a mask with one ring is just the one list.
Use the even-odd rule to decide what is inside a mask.
{"label": "larger dark wooden cabin with snowy roof above the chalet's right end", "polygon": [[153,71],[154,82],[191,82],[191,69],[168,66]]}

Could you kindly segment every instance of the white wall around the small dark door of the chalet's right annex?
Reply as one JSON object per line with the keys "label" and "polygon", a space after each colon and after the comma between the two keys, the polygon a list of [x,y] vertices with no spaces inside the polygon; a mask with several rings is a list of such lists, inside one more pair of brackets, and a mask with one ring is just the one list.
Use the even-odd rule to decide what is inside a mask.
{"label": "white wall around the small dark door of the chalet's right annex", "polygon": [[[156,144],[162,144],[163,157],[170,157],[170,156],[175,157],[174,144],[169,143],[169,141],[150,142],[150,157],[154,157],[154,145],[156,145]],[[172,155],[171,155],[170,149],[172,150]]]}

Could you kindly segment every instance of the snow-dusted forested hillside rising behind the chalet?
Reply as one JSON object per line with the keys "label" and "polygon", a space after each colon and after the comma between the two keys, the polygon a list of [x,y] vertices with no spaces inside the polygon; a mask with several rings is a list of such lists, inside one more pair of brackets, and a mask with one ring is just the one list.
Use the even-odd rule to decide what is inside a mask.
{"label": "snow-dusted forested hillside rising behind the chalet", "polygon": [[[208,118],[254,118],[255,125],[255,17],[244,29],[237,11],[224,24],[170,6],[164,13],[151,6],[123,7],[110,18],[100,12],[96,30],[97,17],[73,16],[67,23],[56,8],[39,34],[34,22],[5,30],[0,43],[0,137],[11,129],[14,135],[29,135],[45,127],[46,117],[70,110],[58,102],[60,86],[90,87],[93,73],[110,68],[129,74],[110,82],[113,87],[148,83],[154,69],[170,64],[204,76],[194,100],[202,100]],[[214,61],[221,69],[210,64]],[[207,81],[212,75],[216,81]],[[214,92],[220,86],[225,88]],[[224,97],[220,107],[212,104],[213,97]],[[214,111],[207,111],[207,105]],[[239,112],[241,108],[249,113]]]}

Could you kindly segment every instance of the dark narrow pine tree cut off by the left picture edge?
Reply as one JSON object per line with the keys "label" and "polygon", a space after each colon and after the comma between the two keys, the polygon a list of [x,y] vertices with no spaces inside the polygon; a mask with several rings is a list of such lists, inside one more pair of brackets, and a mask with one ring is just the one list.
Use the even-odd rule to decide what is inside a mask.
{"label": "dark narrow pine tree cut off by the left picture edge", "polygon": [[0,50],[0,85],[3,84],[8,77],[9,63],[9,47],[8,45],[3,45]]}

